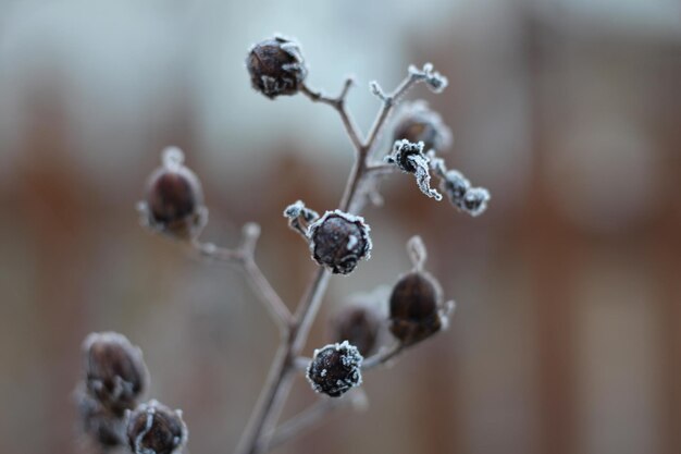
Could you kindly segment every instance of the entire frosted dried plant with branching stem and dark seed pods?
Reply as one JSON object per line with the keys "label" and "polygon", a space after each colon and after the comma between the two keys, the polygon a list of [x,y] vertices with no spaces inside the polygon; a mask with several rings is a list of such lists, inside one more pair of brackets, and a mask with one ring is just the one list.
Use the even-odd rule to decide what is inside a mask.
{"label": "entire frosted dried plant with branching stem and dark seed pods", "polygon": [[[406,78],[386,93],[376,83],[371,91],[382,101],[373,125],[363,135],[350,114],[346,99],[354,82],[347,78],[338,96],[312,89],[299,46],[274,37],[255,45],[246,59],[252,87],[270,99],[302,94],[313,102],[335,109],[355,150],[355,163],[338,207],[320,216],[301,200],[284,209],[290,229],[308,244],[319,268],[295,311],[277,295],[255,258],[260,229],[248,223],[235,248],[205,243],[200,234],[208,221],[200,180],[184,164],[181,150],[163,151],[162,164],[148,179],[139,204],[143,224],[149,230],[188,245],[200,256],[236,263],[252,284],[280,329],[282,342],[267,382],[252,412],[237,454],[263,453],[317,424],[346,404],[361,406],[366,396],[362,373],[388,364],[405,349],[444,330],[454,309],[437,280],[424,270],[426,249],[419,236],[407,243],[413,269],[398,277],[392,292],[374,294],[369,302],[347,306],[333,319],[336,343],[315,349],[312,358],[302,349],[332,274],[354,272],[371,254],[370,228],[360,216],[368,203],[379,204],[379,182],[401,171],[413,175],[418,188],[435,200],[444,196],[458,210],[481,214],[490,194],[471,187],[457,170],[447,169],[438,155],[450,142],[448,128],[424,101],[405,103],[395,122],[392,152],[381,156],[377,139],[404,95],[417,84],[441,93],[447,79],[431,64],[409,68]],[[432,187],[438,181],[439,192]],[[442,193],[442,194],[441,194]],[[382,297],[379,297],[382,296]],[[377,305],[388,305],[383,320]],[[379,331],[387,324],[393,342],[377,346]],[[90,334],[83,346],[85,377],[77,388],[83,429],[94,450],[127,446],[135,454],[181,452],[187,441],[182,413],[157,401],[140,403],[148,384],[141,351],[116,333]],[[278,421],[293,380],[305,375],[319,401],[288,421]]]}

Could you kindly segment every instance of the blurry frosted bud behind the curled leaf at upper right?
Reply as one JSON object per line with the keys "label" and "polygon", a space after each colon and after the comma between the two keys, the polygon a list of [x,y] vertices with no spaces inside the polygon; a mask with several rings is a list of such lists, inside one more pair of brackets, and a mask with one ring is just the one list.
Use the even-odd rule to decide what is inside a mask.
{"label": "blurry frosted bud behind the curled leaf at upper right", "polygon": [[451,133],[437,112],[425,101],[405,103],[393,133],[393,142],[423,143],[424,150],[439,149],[451,140]]}

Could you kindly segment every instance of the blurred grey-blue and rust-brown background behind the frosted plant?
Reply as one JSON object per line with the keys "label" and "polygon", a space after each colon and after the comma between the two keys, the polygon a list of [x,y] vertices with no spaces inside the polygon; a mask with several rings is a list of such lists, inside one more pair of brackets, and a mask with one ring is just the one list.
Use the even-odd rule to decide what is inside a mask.
{"label": "blurred grey-blue and rust-brown background behind the frosted plant", "polygon": [[[0,0],[0,452],[79,453],[81,342],[140,345],[150,396],[181,407],[189,450],[235,446],[277,344],[238,270],[138,225],[160,150],[200,175],[207,240],[261,223],[258,259],[289,307],[314,271],[283,208],[334,208],[351,165],[336,113],[249,85],[248,47],[296,37],[309,83],[366,131],[410,63],[451,127],[445,158],[492,192],[478,219],[383,186],[373,257],[335,278],[308,352],[356,292],[409,269],[458,303],[450,330],[366,377],[277,453],[681,453],[681,5],[677,0]],[[388,149],[388,142],[383,146]],[[314,400],[298,380],[286,415]]]}

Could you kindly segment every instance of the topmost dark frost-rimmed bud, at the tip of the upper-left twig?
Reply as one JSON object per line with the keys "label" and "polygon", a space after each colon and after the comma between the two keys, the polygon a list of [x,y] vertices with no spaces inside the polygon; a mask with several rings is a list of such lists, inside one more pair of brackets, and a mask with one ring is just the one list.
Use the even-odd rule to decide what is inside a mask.
{"label": "topmost dark frost-rimmed bud, at the tip of the upper-left twig", "polygon": [[270,99],[295,95],[308,74],[298,45],[278,36],[255,45],[246,68],[253,88]]}

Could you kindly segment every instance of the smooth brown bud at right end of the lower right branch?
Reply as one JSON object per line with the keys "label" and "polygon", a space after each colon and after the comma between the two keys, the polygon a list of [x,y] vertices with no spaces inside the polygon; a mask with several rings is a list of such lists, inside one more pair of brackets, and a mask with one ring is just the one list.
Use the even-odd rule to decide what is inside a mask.
{"label": "smooth brown bud at right end of the lower right branch", "polygon": [[405,345],[443,328],[442,291],[430,274],[412,271],[397,281],[391,295],[391,332]]}

